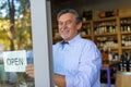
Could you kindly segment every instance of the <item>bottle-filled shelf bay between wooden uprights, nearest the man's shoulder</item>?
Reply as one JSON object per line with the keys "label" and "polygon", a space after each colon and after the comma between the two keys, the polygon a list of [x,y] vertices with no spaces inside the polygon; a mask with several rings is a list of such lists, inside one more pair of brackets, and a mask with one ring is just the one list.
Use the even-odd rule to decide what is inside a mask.
{"label": "bottle-filled shelf bay between wooden uprights, nearest the man's shoulder", "polygon": [[118,28],[115,17],[97,20],[93,22],[94,41],[97,47],[103,50],[107,48],[118,50]]}

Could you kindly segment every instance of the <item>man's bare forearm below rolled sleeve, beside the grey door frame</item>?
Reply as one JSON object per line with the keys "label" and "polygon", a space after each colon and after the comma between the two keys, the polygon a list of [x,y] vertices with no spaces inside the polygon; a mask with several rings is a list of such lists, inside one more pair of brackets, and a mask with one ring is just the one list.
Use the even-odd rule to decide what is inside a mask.
{"label": "man's bare forearm below rolled sleeve, beside the grey door frame", "polygon": [[58,87],[66,87],[66,76],[60,74],[55,74],[55,84]]}

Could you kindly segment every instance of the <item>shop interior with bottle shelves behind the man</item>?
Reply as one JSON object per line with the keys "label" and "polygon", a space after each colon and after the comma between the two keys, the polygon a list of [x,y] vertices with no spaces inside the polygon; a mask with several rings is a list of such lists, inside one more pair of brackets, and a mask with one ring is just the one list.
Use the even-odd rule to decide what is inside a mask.
{"label": "shop interior with bottle shelves behind the man", "polygon": [[61,40],[56,15],[73,8],[82,16],[81,35],[103,54],[102,87],[131,87],[131,0],[52,0],[52,41]]}

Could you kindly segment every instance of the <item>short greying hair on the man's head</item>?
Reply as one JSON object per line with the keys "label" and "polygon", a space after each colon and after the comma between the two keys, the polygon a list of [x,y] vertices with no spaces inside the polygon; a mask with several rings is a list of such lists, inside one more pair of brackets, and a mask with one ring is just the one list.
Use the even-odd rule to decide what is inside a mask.
{"label": "short greying hair on the man's head", "polygon": [[76,20],[76,24],[79,24],[80,22],[82,22],[82,18],[80,17],[79,13],[73,10],[73,9],[64,9],[64,10],[61,10],[58,14],[57,14],[57,21],[58,18],[62,15],[62,14],[66,14],[66,13],[72,13],[74,16],[75,16],[75,20]]}

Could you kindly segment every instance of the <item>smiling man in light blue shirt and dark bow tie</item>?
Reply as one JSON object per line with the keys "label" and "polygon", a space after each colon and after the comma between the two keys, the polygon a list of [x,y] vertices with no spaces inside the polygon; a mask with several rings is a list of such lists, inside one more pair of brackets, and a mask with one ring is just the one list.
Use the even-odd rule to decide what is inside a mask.
{"label": "smiling man in light blue shirt and dark bow tie", "polygon": [[[102,55],[95,44],[80,36],[82,21],[73,9],[57,15],[62,41],[52,47],[55,84],[58,87],[100,87]],[[27,74],[32,65],[27,66]],[[28,71],[31,70],[31,71]]]}

